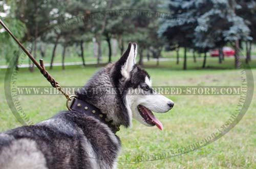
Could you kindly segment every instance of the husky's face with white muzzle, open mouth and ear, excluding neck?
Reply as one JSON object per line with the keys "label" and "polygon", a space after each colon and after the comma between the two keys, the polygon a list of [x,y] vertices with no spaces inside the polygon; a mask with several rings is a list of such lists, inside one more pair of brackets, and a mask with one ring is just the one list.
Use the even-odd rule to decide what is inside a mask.
{"label": "husky's face with white muzzle, open mouth and ear, excluding neck", "polygon": [[136,43],[129,43],[126,52],[115,64],[120,70],[116,86],[122,89],[122,101],[130,120],[135,118],[146,126],[156,125],[162,130],[163,125],[152,111],[165,113],[173,108],[174,102],[152,88],[150,75],[135,64],[136,55]]}

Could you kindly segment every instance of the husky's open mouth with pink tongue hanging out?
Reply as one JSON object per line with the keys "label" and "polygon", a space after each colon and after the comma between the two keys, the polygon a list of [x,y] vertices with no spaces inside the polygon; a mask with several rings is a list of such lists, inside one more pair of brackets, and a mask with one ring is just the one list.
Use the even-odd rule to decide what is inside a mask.
{"label": "husky's open mouth with pink tongue hanging out", "polygon": [[162,123],[155,117],[150,109],[146,108],[145,106],[138,105],[138,110],[147,124],[152,126],[156,125],[160,130],[163,130]]}

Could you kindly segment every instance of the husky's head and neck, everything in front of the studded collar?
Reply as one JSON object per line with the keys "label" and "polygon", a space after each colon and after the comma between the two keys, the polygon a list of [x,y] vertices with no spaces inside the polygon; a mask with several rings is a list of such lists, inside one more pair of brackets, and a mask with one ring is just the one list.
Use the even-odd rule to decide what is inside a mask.
{"label": "husky's head and neck, everything in front of the studded collar", "polygon": [[[84,90],[76,94],[80,100],[99,108],[115,125],[129,127],[132,118],[135,118],[146,126],[156,125],[162,130],[161,122],[152,111],[167,112],[174,103],[152,88],[148,73],[135,64],[136,55],[136,43],[129,43],[117,62],[99,70],[84,86]],[[114,92],[109,92],[110,88]]]}

